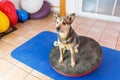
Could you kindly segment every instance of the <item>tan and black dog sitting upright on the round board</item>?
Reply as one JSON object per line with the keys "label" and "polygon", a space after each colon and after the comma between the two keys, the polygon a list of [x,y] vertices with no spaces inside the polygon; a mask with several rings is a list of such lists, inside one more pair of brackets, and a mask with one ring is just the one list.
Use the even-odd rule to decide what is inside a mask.
{"label": "tan and black dog sitting upright on the round board", "polygon": [[58,40],[54,42],[54,46],[58,46],[60,50],[59,63],[63,62],[63,54],[66,50],[71,53],[71,66],[75,67],[75,53],[79,52],[79,36],[72,29],[71,24],[75,19],[75,13],[69,16],[61,17],[54,13],[56,19],[56,31],[58,33]]}

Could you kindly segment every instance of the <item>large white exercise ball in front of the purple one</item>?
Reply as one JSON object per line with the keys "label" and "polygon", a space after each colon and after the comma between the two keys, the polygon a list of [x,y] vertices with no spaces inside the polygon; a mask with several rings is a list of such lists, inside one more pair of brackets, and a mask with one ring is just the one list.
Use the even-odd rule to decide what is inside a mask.
{"label": "large white exercise ball in front of the purple one", "polygon": [[21,0],[20,3],[22,8],[28,13],[35,13],[42,7],[43,0]]}

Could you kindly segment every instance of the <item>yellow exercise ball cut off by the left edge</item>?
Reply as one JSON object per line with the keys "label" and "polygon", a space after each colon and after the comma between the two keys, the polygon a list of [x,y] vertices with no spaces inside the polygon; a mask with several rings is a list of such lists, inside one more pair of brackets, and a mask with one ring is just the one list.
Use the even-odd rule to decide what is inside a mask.
{"label": "yellow exercise ball cut off by the left edge", "polygon": [[8,30],[10,22],[8,17],[0,11],[0,33],[3,33]]}

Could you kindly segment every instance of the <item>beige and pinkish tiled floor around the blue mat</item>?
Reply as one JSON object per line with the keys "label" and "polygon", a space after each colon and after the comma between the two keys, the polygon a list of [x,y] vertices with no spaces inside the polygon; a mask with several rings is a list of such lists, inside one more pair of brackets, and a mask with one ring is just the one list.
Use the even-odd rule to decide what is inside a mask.
{"label": "beige and pinkish tiled floor around the blue mat", "polygon": [[[73,28],[79,35],[89,36],[101,45],[120,50],[120,23],[76,17]],[[50,14],[44,19],[28,20],[16,25],[18,30],[0,39],[0,80],[51,80],[10,56],[12,50],[42,31],[55,32]]]}

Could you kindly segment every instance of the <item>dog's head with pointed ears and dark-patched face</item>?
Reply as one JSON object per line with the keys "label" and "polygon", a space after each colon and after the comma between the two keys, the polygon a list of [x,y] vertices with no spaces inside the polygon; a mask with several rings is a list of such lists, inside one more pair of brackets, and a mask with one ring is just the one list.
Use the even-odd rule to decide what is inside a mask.
{"label": "dog's head with pointed ears and dark-patched face", "polygon": [[68,34],[71,24],[75,19],[75,13],[69,16],[60,17],[59,14],[54,13],[56,19],[56,30],[59,34]]}

